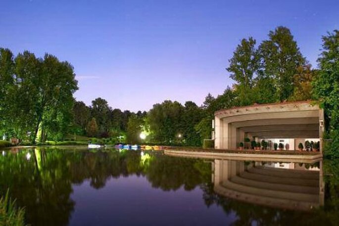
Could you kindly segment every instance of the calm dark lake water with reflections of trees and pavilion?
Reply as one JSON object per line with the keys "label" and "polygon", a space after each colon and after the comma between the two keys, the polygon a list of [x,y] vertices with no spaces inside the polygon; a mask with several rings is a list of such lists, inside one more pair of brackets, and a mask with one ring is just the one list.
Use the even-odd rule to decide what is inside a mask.
{"label": "calm dark lake water with reflections of trees and pavilion", "polygon": [[339,220],[338,176],[323,170],[336,166],[326,161],[198,160],[115,149],[1,152],[0,193],[10,189],[32,226],[319,226]]}

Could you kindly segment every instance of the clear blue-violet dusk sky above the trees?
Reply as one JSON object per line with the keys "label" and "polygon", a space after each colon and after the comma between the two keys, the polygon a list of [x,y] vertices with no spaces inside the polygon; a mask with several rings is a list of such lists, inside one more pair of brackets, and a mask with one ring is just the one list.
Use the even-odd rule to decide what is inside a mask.
{"label": "clear blue-violet dusk sky above the trees", "polygon": [[223,93],[240,40],[260,43],[280,25],[316,66],[321,36],[339,29],[339,1],[0,0],[0,47],[67,60],[78,101],[130,111]]}

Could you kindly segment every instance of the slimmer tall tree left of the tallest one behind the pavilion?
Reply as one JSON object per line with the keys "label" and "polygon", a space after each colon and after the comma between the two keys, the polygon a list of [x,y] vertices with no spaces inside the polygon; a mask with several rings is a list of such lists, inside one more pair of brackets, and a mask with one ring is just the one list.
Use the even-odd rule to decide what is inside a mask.
{"label": "slimmer tall tree left of the tallest one behind the pavilion", "polygon": [[259,58],[255,49],[256,41],[249,37],[242,39],[233,57],[229,60],[230,66],[226,68],[231,72],[230,77],[236,81],[235,92],[239,96],[239,105],[251,105],[254,101],[252,91],[253,77],[259,67]]}

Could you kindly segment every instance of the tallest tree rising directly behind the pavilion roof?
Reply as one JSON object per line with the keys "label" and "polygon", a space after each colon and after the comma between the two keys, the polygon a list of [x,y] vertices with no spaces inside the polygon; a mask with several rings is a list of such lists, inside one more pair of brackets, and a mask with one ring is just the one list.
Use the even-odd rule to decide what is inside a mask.
{"label": "tallest tree rising directly behind the pavilion roof", "polygon": [[[258,48],[258,80],[272,82],[270,86],[276,89],[276,101],[284,101],[293,93],[293,77],[297,67],[303,66],[306,59],[301,55],[287,27],[277,27],[268,36],[269,39],[263,41]],[[258,83],[262,85],[261,82]]]}

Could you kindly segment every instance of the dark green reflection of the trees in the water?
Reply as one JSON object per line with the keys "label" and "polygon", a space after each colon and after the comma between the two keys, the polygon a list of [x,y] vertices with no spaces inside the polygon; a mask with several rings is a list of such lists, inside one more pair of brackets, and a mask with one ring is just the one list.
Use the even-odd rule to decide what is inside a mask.
{"label": "dark green reflection of the trees in the water", "polygon": [[[30,155],[27,155],[30,153]],[[30,158],[28,158],[30,157]],[[161,152],[36,148],[12,149],[0,156],[0,193],[10,189],[19,206],[26,208],[27,223],[67,225],[76,203],[72,185],[89,180],[100,189],[110,178],[145,176],[153,188],[190,191],[199,187],[207,207],[235,213],[235,225],[334,225],[339,222],[338,163],[324,161],[325,207],[310,213],[242,203],[213,191],[211,163],[164,156]]]}

